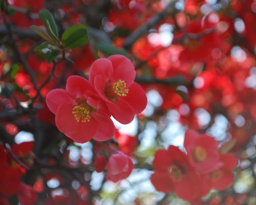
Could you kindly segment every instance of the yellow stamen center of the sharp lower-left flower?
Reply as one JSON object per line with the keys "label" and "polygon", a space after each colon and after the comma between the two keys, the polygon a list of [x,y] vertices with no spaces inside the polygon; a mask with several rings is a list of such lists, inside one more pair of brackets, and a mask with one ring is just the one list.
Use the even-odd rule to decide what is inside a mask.
{"label": "yellow stamen center of the sharp lower-left flower", "polygon": [[90,113],[92,108],[86,103],[85,100],[77,99],[77,106],[74,106],[72,109],[72,114],[74,115],[77,122],[89,122],[90,121]]}

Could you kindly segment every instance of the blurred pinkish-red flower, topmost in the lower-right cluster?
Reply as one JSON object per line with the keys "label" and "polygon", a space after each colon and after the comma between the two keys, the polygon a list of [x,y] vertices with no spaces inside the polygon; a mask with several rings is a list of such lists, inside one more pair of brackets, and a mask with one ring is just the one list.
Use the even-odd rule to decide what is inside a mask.
{"label": "blurred pinkish-red flower, topmost in the lower-right cluster", "polygon": [[218,141],[193,130],[185,133],[184,147],[190,164],[201,174],[208,174],[222,166],[219,160]]}

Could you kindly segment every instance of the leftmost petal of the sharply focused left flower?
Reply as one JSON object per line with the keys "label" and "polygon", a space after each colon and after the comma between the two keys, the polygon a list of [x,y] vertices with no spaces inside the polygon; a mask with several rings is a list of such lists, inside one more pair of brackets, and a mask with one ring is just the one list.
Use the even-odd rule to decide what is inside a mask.
{"label": "leftmost petal of the sharply focused left flower", "polygon": [[72,99],[66,90],[54,89],[46,96],[46,104],[52,113],[57,112],[58,106],[62,104],[74,104],[75,99]]}

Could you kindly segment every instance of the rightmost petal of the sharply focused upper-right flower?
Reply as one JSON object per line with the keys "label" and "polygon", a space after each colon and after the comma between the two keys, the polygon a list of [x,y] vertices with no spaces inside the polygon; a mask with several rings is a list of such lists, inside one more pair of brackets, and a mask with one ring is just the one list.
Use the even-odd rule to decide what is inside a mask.
{"label": "rightmost petal of the sharply focused upper-right flower", "polygon": [[135,82],[129,87],[129,93],[124,99],[134,109],[135,114],[141,113],[147,106],[146,93],[143,88]]}

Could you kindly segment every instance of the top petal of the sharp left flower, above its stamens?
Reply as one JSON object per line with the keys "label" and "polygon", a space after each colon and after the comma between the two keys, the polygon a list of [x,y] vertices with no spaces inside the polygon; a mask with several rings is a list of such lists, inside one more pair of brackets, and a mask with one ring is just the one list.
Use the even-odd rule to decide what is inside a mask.
{"label": "top petal of the sharp left flower, above its stamens", "polygon": [[66,90],[75,95],[75,98],[85,96],[88,90],[94,90],[89,81],[78,75],[71,75],[67,79]]}

